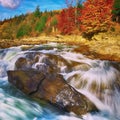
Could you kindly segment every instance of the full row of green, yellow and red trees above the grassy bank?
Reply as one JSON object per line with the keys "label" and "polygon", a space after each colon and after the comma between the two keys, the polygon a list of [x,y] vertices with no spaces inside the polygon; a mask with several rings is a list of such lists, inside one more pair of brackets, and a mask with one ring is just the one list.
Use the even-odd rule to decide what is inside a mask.
{"label": "full row of green, yellow and red trees above the grassy bank", "polygon": [[[67,1],[67,0],[66,0]],[[72,2],[71,2],[72,3]],[[68,8],[22,14],[0,22],[0,39],[20,39],[41,34],[81,34],[91,38],[99,32],[114,31],[120,23],[120,0],[86,0]]]}

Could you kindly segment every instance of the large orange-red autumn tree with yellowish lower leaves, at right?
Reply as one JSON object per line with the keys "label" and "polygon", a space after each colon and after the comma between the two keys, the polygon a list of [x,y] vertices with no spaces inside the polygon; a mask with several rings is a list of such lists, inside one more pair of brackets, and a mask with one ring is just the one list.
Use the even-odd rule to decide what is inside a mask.
{"label": "large orange-red autumn tree with yellowish lower leaves, at right", "polygon": [[87,0],[81,10],[79,21],[83,35],[91,38],[94,34],[107,31],[111,26],[113,0]]}

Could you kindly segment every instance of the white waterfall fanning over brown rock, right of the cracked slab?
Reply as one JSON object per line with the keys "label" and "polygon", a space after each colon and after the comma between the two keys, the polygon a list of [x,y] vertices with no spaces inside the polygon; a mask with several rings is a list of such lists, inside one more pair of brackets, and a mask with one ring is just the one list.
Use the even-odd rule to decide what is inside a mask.
{"label": "white waterfall fanning over brown rock, right of the cracked slab", "polygon": [[[68,57],[69,54],[64,58],[71,62],[79,62],[79,69],[64,74],[64,78],[77,91],[94,102],[100,110],[108,110],[119,115],[120,71],[114,67],[113,62],[80,58],[75,56],[76,54],[74,54],[76,58],[74,56],[71,58]],[[81,65],[89,67],[83,69]]]}

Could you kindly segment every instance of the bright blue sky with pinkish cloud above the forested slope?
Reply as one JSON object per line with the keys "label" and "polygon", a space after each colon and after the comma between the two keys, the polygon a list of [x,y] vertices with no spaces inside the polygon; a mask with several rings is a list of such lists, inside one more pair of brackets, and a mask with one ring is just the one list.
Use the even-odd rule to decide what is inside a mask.
{"label": "bright blue sky with pinkish cloud above the forested slope", "polygon": [[65,0],[0,0],[0,20],[35,10],[41,11],[65,8]]}

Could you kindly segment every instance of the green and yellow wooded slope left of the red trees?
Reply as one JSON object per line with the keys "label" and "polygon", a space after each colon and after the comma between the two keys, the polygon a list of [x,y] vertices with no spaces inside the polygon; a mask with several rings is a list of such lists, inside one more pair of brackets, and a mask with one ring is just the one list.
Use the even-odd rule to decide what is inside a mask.
{"label": "green and yellow wooded slope left of the red trees", "polygon": [[[20,39],[49,34],[59,11],[41,12],[37,7],[33,13],[15,16],[0,23],[0,39]],[[49,21],[49,27],[46,28]]]}

